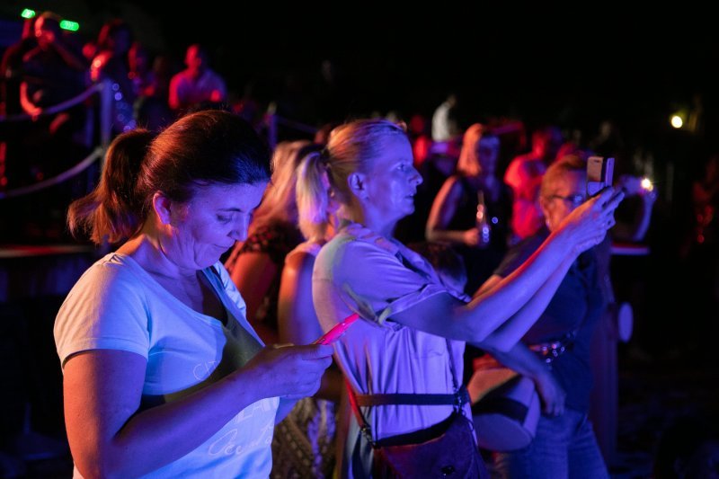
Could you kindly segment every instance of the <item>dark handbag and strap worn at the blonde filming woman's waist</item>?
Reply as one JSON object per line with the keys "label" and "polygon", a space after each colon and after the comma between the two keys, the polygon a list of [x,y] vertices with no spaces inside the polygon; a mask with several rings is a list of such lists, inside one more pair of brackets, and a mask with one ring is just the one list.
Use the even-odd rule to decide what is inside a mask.
{"label": "dark handbag and strap worn at the blonde filming woman's waist", "polygon": [[[472,421],[465,417],[462,405],[469,399],[466,388],[457,386],[454,360],[448,342],[452,381],[455,393],[358,395],[346,382],[352,412],[365,439],[372,446],[372,477],[415,478],[450,477],[489,479],[479,456]],[[375,440],[359,406],[386,404],[440,405],[452,404],[449,417],[429,428]]]}

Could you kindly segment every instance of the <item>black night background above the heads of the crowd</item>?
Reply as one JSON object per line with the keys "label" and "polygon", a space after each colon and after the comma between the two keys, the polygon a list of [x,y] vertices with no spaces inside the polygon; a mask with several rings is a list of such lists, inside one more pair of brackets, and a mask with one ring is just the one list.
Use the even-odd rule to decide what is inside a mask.
{"label": "black night background above the heads of the crowd", "polygon": [[[22,8],[50,9],[79,22],[91,40],[102,22],[119,17],[177,69],[187,46],[200,42],[235,98],[251,93],[276,102],[280,115],[312,126],[389,111],[405,120],[430,117],[448,93],[459,97],[464,126],[497,118],[522,120],[530,130],[555,123],[586,142],[600,121],[613,120],[627,151],[652,156],[649,173],[675,220],[688,211],[691,181],[719,151],[719,29],[706,7],[179,4],[10,0],[0,5],[0,19],[19,28]],[[332,85],[321,75],[326,60]],[[698,115],[697,129],[670,128],[679,110]]]}

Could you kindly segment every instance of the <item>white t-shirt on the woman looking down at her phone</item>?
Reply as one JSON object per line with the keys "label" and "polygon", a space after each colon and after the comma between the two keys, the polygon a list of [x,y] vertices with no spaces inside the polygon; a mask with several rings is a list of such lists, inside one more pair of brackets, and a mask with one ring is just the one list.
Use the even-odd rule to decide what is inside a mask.
{"label": "white t-shirt on the woman looking down at her phone", "polygon": [[[106,255],[60,307],[55,342],[61,363],[82,350],[139,354],[147,359],[144,407],[172,402],[241,368],[262,341],[225,268],[220,262],[213,268],[219,277],[210,268],[203,273],[226,308],[226,326],[173,297],[129,256]],[[267,477],[279,403],[272,397],[249,405],[199,448],[147,477]]]}

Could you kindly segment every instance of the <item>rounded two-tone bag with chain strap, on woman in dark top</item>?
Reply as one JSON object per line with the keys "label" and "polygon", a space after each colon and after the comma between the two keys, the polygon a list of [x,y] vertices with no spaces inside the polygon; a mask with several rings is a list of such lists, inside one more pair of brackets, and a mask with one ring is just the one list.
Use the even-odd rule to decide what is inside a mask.
{"label": "rounded two-tone bag with chain strap, on woman in dark top", "polygon": [[[535,344],[529,349],[549,364],[572,346],[578,330],[568,333],[563,341]],[[497,452],[528,447],[542,412],[534,381],[503,366],[490,354],[475,359],[474,369],[467,391],[479,447]]]}

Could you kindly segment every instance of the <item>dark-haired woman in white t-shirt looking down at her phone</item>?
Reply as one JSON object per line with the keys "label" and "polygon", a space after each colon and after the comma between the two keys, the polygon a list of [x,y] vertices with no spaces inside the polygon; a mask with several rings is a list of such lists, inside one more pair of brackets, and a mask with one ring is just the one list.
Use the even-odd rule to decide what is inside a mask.
{"label": "dark-haired woman in white t-shirt looking down at her phone", "polygon": [[200,111],[117,137],[75,234],[119,244],[58,312],[75,477],[266,477],[276,421],[313,395],[331,348],[264,347],[220,256],[270,179],[244,120]]}

